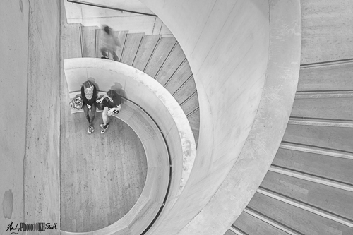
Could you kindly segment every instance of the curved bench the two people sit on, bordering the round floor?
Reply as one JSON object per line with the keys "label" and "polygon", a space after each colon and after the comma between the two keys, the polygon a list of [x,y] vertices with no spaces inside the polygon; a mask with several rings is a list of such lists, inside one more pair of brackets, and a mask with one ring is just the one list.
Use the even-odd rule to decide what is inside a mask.
{"label": "curved bench the two people sit on, bordering the round floor", "polygon": [[[74,97],[80,92],[71,92]],[[105,92],[98,92],[102,95]],[[72,109],[72,114],[83,110]],[[101,112],[101,111],[99,111]],[[131,100],[122,97],[121,112],[114,114],[136,132],[143,144],[147,156],[147,177],[143,191],[131,210],[114,224],[103,229],[90,232],[68,232],[61,234],[142,234],[158,212],[162,209],[169,188],[169,153],[164,137],[150,116]],[[145,216],[148,215],[148,216]]]}

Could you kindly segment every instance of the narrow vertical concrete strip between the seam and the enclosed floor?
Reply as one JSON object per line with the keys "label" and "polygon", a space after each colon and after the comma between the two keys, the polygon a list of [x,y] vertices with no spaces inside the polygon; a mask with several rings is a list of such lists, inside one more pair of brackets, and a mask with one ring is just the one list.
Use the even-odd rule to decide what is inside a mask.
{"label": "narrow vertical concrete strip between the seam and the enclosed floor", "polygon": [[59,234],[60,1],[30,1],[25,222]]}

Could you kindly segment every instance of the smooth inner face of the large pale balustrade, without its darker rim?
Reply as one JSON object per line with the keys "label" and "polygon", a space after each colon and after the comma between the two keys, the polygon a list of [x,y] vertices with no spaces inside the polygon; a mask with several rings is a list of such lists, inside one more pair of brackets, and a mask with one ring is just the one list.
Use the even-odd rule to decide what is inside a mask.
{"label": "smooth inner face of the large pale balustrade, without its darker rim", "polygon": [[200,104],[198,157],[187,193],[149,231],[176,234],[215,194],[251,130],[268,64],[268,6],[260,1],[145,3],[184,50]]}

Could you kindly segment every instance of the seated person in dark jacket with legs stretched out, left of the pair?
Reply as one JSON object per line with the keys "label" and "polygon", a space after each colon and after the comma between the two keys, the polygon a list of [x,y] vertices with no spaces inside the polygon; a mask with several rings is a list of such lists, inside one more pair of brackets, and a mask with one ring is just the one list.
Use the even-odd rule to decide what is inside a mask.
{"label": "seated person in dark jacket with legs stretched out, left of the pair", "polygon": [[85,112],[88,121],[88,133],[91,134],[95,131],[93,121],[95,120],[95,111],[97,108],[97,88],[91,81],[87,80],[81,86],[81,95],[83,99],[83,112]]}

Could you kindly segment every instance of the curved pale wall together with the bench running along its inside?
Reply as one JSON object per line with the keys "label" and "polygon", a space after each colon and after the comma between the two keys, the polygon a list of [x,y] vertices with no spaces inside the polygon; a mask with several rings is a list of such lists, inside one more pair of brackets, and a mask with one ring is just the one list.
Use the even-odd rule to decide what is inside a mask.
{"label": "curved pale wall together with the bench running along its inside", "polygon": [[[196,155],[189,122],[179,104],[162,85],[131,66],[85,58],[64,60],[64,68],[70,97],[80,93],[78,88],[88,78],[97,84],[98,90],[114,89],[126,97],[123,98],[121,112],[114,116],[131,126],[143,143],[148,175],[138,202],[118,222],[97,231],[63,233],[141,234],[155,221],[162,206],[175,201],[189,177]],[[169,164],[168,152],[172,164]],[[170,166],[172,171],[169,171]]]}

